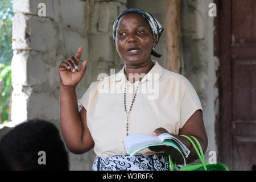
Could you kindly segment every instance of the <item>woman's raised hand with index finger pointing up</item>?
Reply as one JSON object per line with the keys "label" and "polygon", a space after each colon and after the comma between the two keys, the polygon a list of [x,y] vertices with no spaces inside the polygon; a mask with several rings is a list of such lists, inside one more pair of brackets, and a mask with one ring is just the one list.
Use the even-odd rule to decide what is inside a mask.
{"label": "woman's raised hand with index finger pointing up", "polygon": [[79,70],[82,55],[82,47],[79,47],[75,57],[69,57],[59,65],[59,76],[61,86],[76,87],[84,76],[87,61],[83,61]]}

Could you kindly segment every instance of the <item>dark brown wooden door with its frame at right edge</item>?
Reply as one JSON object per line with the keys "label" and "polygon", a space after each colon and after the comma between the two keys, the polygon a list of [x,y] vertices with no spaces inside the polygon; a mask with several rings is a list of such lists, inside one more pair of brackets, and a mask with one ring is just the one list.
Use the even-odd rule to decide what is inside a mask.
{"label": "dark brown wooden door with its frame at right edge", "polygon": [[220,6],[221,162],[233,170],[256,166],[256,1]]}

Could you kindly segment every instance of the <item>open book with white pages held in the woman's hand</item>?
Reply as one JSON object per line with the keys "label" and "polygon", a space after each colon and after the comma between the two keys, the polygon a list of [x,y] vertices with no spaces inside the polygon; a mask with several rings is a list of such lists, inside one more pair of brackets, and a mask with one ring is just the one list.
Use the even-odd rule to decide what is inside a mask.
{"label": "open book with white pages held in the woman's hand", "polygon": [[138,151],[151,146],[167,145],[174,147],[183,156],[184,164],[184,155],[187,158],[190,152],[188,148],[180,142],[179,139],[168,133],[160,134],[157,137],[153,137],[147,134],[132,134],[128,135],[127,137],[123,137],[123,142],[125,143],[126,152],[129,155],[134,155]]}

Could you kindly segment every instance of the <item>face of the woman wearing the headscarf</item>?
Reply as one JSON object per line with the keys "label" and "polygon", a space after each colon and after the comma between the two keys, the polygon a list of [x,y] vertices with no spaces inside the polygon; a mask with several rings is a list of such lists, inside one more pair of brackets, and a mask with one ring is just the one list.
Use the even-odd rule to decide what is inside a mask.
{"label": "face of the woman wearing the headscarf", "polygon": [[141,15],[123,15],[117,24],[115,48],[127,64],[139,65],[151,61],[151,49],[156,43],[156,34]]}

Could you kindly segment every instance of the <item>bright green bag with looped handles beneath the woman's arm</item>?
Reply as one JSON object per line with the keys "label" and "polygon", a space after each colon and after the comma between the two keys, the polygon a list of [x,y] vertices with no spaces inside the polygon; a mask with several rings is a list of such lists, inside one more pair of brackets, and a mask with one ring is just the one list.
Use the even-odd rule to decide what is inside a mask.
{"label": "bright green bag with looped handles beneath the woman's arm", "polygon": [[[229,169],[224,166],[224,164],[221,163],[214,163],[214,164],[210,164],[210,163],[205,163],[205,159],[204,159],[204,152],[201,148],[201,145],[199,143],[199,141],[193,137],[193,139],[195,139],[197,146],[199,147],[200,152],[197,150],[197,147],[195,145],[195,143],[187,136],[185,135],[181,135],[185,138],[187,138],[193,145],[193,147],[196,150],[197,155],[199,156],[199,159],[201,160],[201,163],[197,163],[197,164],[189,164],[187,166],[181,167],[178,171],[229,171]],[[169,161],[170,161],[170,169],[171,171],[174,171],[176,169],[176,163],[174,163],[174,168],[172,168],[172,160],[171,160],[171,156],[169,155]]]}

